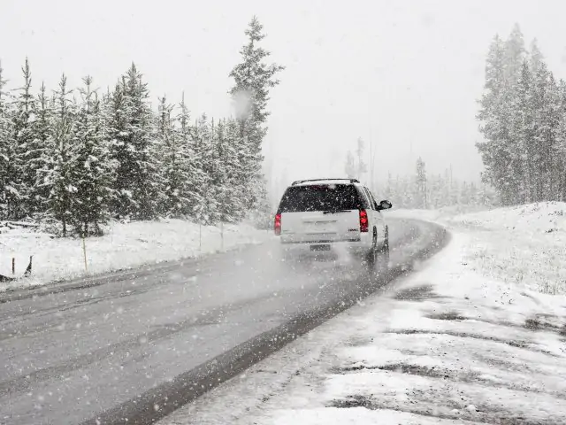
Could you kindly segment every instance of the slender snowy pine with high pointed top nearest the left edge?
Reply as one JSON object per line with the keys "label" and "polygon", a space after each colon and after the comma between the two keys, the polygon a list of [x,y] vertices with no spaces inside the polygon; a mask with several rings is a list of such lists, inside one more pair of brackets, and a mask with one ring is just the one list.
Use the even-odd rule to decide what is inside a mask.
{"label": "slender snowy pine with high pointed top nearest the left edge", "polygon": [[34,186],[41,150],[34,137],[34,95],[31,92],[32,75],[29,62],[22,66],[24,84],[17,90],[13,110],[14,180],[15,189],[11,210],[13,219],[31,217],[34,213]]}

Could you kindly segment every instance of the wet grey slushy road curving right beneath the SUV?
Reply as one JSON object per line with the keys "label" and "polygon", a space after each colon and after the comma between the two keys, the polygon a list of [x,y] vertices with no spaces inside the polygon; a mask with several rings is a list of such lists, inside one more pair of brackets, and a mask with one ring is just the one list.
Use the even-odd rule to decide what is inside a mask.
{"label": "wet grey slushy road curving right beneath the SUV", "polygon": [[[447,239],[415,220],[390,220],[390,233],[387,279]],[[6,294],[0,423],[151,423],[385,283],[345,259],[290,267],[267,243]]]}

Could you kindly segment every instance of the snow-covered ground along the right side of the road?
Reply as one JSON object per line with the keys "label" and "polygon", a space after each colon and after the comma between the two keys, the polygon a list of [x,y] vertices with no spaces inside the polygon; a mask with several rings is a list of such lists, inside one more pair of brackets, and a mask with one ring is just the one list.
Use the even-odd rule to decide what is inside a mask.
{"label": "snow-covered ground along the right side of the road", "polygon": [[161,425],[566,423],[562,211],[395,213],[447,249]]}

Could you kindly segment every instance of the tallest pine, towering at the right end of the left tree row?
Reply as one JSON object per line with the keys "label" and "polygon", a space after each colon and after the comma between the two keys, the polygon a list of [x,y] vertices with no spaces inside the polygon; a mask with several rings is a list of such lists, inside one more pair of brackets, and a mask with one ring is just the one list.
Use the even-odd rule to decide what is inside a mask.
{"label": "tallest pine, towering at the right end of the left tree row", "polygon": [[[267,132],[264,124],[270,115],[267,111],[269,91],[279,84],[275,75],[285,67],[264,62],[271,53],[257,45],[265,35],[263,26],[255,16],[249,22],[245,34],[248,36],[248,42],[240,50],[241,63],[234,66],[229,74],[234,81],[229,93],[233,97],[240,126],[240,149],[249,151],[249,154],[244,156],[250,159],[249,164],[244,166],[247,170],[246,181],[250,186],[247,196],[249,205],[256,209],[263,202],[259,197],[263,195],[254,190],[264,188],[261,173],[264,160],[262,143]],[[260,191],[266,193],[265,189]]]}

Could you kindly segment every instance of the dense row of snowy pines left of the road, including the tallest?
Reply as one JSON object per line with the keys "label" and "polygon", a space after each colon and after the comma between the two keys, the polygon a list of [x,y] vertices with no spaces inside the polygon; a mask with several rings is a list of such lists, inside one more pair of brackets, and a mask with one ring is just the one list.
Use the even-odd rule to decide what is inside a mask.
{"label": "dense row of snowy pines left of the road, including the tallest", "polygon": [[54,222],[63,235],[100,235],[108,220],[161,217],[203,224],[269,213],[262,174],[269,90],[283,66],[266,64],[263,27],[246,30],[230,76],[234,117],[192,119],[149,88],[132,64],[112,89],[91,76],[71,89],[65,74],[33,92],[26,59],[19,89],[0,66],[0,220]]}

